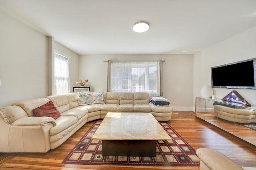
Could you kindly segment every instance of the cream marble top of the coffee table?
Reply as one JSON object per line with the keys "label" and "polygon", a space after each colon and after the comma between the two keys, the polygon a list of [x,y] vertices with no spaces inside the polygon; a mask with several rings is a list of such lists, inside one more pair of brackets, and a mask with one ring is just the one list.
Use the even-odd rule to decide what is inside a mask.
{"label": "cream marble top of the coffee table", "polygon": [[171,137],[151,113],[109,112],[92,139],[171,140]]}

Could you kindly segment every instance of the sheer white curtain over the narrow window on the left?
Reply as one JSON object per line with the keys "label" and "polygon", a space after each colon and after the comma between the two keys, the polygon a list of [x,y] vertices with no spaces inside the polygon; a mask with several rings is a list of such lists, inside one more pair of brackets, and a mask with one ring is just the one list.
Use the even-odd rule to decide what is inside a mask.
{"label": "sheer white curtain over the narrow window on the left", "polygon": [[54,94],[63,94],[69,91],[69,60],[54,53]]}

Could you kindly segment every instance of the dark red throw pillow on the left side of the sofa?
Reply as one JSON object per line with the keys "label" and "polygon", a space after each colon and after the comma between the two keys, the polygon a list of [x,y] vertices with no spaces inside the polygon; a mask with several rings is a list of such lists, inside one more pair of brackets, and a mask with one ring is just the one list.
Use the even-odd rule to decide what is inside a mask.
{"label": "dark red throw pillow on the left side of the sofa", "polygon": [[46,104],[33,109],[33,113],[36,115],[36,117],[47,116],[54,119],[60,117],[60,112],[58,109],[56,109],[52,101],[49,101]]}

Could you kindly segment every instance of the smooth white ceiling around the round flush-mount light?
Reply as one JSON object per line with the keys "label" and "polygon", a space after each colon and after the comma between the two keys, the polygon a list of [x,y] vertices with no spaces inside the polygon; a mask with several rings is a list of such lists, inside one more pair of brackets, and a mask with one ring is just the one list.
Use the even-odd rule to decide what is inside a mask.
{"label": "smooth white ceiling around the round flush-mount light", "polygon": [[[256,0],[0,0],[0,10],[80,55],[192,53],[256,26]],[[137,21],[150,29],[135,33]]]}

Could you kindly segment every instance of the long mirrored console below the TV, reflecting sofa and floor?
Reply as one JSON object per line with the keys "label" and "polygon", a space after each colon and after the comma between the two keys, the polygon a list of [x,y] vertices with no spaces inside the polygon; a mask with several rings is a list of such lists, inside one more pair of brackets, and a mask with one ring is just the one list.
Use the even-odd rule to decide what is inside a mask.
{"label": "long mirrored console below the TV, reflecting sofa and floor", "polygon": [[195,116],[256,146],[256,106],[234,106],[220,99],[196,97]]}

